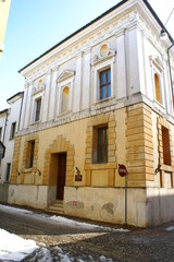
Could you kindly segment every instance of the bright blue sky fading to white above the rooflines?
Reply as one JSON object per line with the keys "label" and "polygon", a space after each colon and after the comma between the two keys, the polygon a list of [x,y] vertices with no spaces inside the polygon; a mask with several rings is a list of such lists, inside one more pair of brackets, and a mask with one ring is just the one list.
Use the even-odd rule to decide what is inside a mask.
{"label": "bright blue sky fading to white above the rooflines", "polygon": [[[120,0],[11,0],[4,52],[0,59],[0,110],[7,99],[24,90],[17,71]],[[166,22],[173,0],[149,0]],[[174,13],[166,27],[174,36]]]}

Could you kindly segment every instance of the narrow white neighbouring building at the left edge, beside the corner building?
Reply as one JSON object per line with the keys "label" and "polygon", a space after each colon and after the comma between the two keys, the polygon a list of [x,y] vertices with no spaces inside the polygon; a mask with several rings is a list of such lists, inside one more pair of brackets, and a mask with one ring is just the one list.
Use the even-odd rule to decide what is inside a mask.
{"label": "narrow white neighbouring building at the left edge, beside the corner building", "polygon": [[8,203],[14,139],[20,126],[23,92],[18,92],[7,102],[10,108],[0,111],[0,141],[5,146],[4,157],[0,160],[0,202],[3,203]]}

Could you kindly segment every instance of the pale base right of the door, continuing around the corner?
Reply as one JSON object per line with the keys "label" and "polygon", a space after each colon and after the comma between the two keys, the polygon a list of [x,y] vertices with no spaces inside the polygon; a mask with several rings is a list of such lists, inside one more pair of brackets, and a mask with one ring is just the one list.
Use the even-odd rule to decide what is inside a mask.
{"label": "pale base right of the door, continuing around the corner", "polygon": [[[127,224],[158,226],[174,221],[174,189],[128,189]],[[65,214],[113,224],[125,224],[125,190],[65,188]]]}

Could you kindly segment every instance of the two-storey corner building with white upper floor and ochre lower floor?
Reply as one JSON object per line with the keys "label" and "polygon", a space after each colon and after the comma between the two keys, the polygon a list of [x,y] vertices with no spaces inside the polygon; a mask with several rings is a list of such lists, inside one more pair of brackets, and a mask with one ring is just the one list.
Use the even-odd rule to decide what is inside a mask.
{"label": "two-storey corner building with white upper floor and ochre lower floor", "polygon": [[[173,41],[123,0],[20,70],[9,203],[147,227],[174,219]],[[171,69],[171,74],[170,74]]]}

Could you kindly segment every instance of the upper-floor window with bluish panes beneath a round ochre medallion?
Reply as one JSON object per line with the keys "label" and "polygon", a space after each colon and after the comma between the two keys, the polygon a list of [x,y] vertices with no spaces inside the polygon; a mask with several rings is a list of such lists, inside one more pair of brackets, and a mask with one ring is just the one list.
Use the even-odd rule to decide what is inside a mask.
{"label": "upper-floor window with bluish panes beneath a round ochre medallion", "polygon": [[100,99],[111,97],[111,69],[100,72]]}

